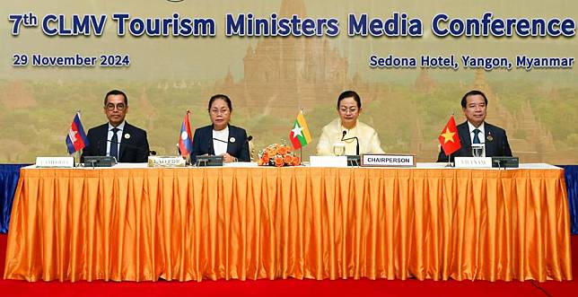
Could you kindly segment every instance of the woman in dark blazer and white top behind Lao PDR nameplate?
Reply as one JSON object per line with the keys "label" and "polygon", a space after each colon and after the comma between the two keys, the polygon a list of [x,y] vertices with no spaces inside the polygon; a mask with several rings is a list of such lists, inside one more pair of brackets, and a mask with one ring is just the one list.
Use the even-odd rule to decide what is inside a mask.
{"label": "woman in dark blazer and white top behind Lao PDR nameplate", "polygon": [[223,162],[249,162],[247,132],[241,127],[229,125],[232,103],[229,97],[216,94],[209,100],[209,116],[212,125],[200,127],[193,136],[191,159],[198,155],[223,155]]}

